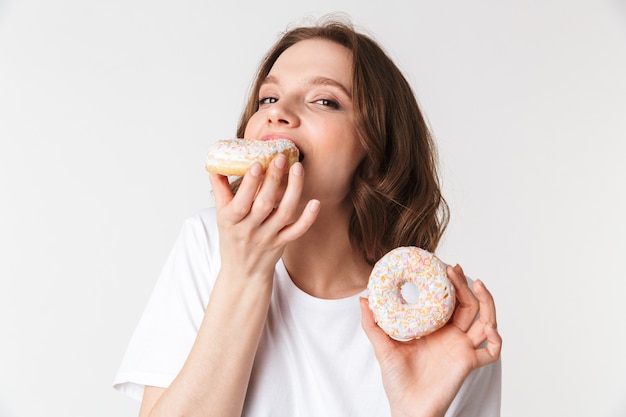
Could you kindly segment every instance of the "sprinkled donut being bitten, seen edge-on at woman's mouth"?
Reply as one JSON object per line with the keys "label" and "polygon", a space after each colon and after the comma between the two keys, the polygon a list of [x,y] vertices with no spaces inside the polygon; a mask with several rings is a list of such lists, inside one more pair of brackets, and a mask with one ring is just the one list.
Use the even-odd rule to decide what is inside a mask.
{"label": "sprinkled donut being bitten, seen edge-on at woman's mouth", "polygon": [[281,153],[287,157],[288,166],[300,157],[298,148],[288,139],[223,139],[209,149],[205,168],[216,174],[241,176],[255,162],[260,162],[265,171],[272,158]]}

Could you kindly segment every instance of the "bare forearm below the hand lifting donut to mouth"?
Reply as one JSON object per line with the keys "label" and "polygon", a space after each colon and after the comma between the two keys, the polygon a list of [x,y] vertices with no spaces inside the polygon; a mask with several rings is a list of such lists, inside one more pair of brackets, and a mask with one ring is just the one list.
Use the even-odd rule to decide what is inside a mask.
{"label": "bare forearm below the hand lifting donut to mouth", "polygon": [[241,415],[271,287],[220,274],[187,361],[150,416]]}

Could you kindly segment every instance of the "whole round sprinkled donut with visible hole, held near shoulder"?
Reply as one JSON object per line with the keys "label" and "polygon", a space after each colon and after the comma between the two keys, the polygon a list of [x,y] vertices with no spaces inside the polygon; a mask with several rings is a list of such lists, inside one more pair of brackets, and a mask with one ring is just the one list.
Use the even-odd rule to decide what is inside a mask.
{"label": "whole round sprinkled donut with visible hole, held near shoulder", "polygon": [[367,290],[376,323],[399,341],[419,339],[441,328],[456,303],[446,264],[414,246],[393,249],[380,258]]}

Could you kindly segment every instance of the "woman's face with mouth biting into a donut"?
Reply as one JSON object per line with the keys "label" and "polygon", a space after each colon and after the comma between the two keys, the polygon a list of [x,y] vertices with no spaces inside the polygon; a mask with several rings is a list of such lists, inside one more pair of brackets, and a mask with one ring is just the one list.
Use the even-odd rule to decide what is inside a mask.
{"label": "woman's face with mouth biting into a donut", "polygon": [[303,156],[303,200],[341,204],[365,155],[354,118],[352,53],[335,42],[310,39],[274,63],[245,137],[291,139]]}

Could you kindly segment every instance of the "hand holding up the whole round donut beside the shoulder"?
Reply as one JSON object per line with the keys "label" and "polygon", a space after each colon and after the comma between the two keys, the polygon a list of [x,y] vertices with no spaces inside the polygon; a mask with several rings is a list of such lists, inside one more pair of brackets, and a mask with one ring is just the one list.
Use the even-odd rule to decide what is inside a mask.
{"label": "hand holding up the whole round donut beside the shoulder", "polygon": [[467,375],[500,357],[491,294],[481,281],[474,282],[472,292],[458,265],[448,266],[447,275],[458,300],[454,314],[447,325],[419,339],[391,339],[374,321],[367,299],[361,299],[363,329],[394,416],[443,416]]}

